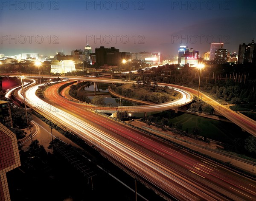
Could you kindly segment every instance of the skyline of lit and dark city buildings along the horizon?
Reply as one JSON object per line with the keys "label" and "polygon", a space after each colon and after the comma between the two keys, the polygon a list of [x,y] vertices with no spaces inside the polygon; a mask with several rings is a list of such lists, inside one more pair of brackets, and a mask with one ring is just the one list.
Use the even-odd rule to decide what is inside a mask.
{"label": "skyline of lit and dark city buildings along the horizon", "polygon": [[70,55],[65,55],[63,50],[56,53],[54,56],[39,56],[36,53],[22,53],[14,56],[5,56],[5,54],[0,54],[0,60],[2,63],[15,64],[24,61],[49,61],[51,62],[51,73],[65,74],[67,72],[76,71],[75,65],[77,65],[80,70],[81,67],[84,70],[84,64],[96,65],[95,68],[105,68],[110,69],[111,67],[122,67],[123,61],[136,60],[137,62],[158,65],[160,63],[172,63],[179,64],[181,66],[188,64],[189,67],[195,67],[202,60],[210,61],[215,64],[222,64],[226,62],[233,62],[238,64],[243,63],[256,63],[256,46],[254,40],[249,44],[240,44],[238,54],[236,52],[228,52],[225,49],[223,42],[211,43],[210,51],[205,52],[203,57],[199,56],[199,51],[193,48],[188,48],[185,45],[181,45],[178,49],[178,57],[175,61],[169,60],[169,58],[164,58],[160,55],[160,52],[120,52],[118,48],[110,47],[105,48],[101,46],[95,48],[93,53],[92,48],[87,44],[84,49],[76,49],[70,52]]}

